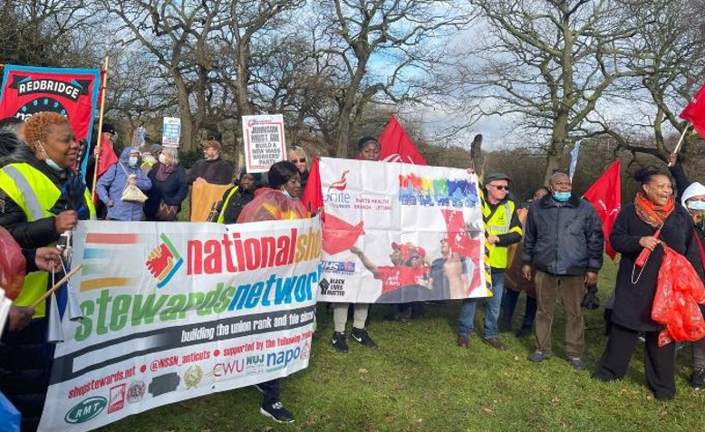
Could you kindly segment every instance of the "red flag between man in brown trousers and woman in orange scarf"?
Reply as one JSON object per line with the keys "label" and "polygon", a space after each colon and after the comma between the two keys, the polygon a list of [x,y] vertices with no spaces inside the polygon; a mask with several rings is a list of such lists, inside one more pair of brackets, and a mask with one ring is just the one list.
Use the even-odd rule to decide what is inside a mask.
{"label": "red flag between man in brown trousers and woman in orange scarf", "polygon": [[604,171],[601,178],[587,189],[585,199],[590,201],[597,211],[597,216],[603,221],[604,251],[614,259],[617,254],[610,245],[610,233],[622,207],[622,180],[620,178],[619,159],[615,160],[610,168]]}

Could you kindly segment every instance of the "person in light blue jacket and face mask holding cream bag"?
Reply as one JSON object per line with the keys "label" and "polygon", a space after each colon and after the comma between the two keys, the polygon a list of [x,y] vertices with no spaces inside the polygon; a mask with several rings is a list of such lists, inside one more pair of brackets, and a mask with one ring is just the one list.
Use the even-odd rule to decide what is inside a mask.
{"label": "person in light blue jacket and face mask holding cream bag", "polygon": [[135,167],[130,167],[128,164],[130,153],[137,151],[138,150],[133,147],[123,149],[120,155],[120,161],[111,168],[108,168],[95,186],[98,197],[101,198],[103,203],[107,205],[109,201],[113,202],[113,206],[108,207],[109,219],[125,221],[142,220],[143,203],[121,200],[122,191],[127,185],[127,178],[132,174],[137,176],[137,187],[139,187],[142,192],[146,192],[151,188],[151,180],[144,175],[140,169],[140,164]]}

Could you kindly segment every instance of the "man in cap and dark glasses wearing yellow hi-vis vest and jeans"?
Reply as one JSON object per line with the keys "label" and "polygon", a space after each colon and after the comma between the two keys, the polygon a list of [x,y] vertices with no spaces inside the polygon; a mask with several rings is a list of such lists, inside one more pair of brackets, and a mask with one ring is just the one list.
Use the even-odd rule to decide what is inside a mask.
{"label": "man in cap and dark glasses wearing yellow hi-vis vest and jeans", "polygon": [[[482,190],[482,218],[485,223],[485,247],[489,254],[492,273],[492,297],[486,299],[485,328],[482,341],[497,350],[505,345],[497,339],[497,319],[504,292],[504,272],[507,268],[507,246],[521,240],[521,223],[517,217],[514,201],[507,197],[509,177],[505,174],[489,174]],[[458,345],[468,348],[472,334],[475,310],[478,302],[485,299],[466,299],[460,307]]]}

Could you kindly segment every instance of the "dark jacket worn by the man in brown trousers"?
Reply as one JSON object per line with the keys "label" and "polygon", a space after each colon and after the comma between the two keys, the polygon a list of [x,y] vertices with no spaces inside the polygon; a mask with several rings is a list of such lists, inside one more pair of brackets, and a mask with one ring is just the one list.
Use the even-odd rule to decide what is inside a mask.
{"label": "dark jacket worn by the man in brown trousers", "polygon": [[597,273],[603,265],[600,218],[587,201],[572,196],[565,203],[551,195],[529,207],[521,261],[549,274]]}

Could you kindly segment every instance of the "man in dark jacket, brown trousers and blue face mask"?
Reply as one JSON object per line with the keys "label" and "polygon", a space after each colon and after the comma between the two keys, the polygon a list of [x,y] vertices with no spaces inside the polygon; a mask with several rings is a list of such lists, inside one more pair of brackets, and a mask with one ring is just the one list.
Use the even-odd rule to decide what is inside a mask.
{"label": "man in dark jacket, brown trousers and blue face mask", "polygon": [[522,251],[522,274],[536,269],[536,351],[529,360],[551,357],[551,324],[558,298],[565,308],[565,351],[570,365],[584,370],[584,318],[581,303],[586,288],[597,284],[603,265],[603,228],[587,201],[571,193],[570,178],[555,173],[549,195],[529,207]]}

